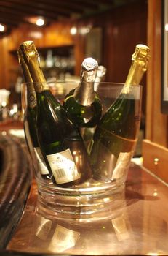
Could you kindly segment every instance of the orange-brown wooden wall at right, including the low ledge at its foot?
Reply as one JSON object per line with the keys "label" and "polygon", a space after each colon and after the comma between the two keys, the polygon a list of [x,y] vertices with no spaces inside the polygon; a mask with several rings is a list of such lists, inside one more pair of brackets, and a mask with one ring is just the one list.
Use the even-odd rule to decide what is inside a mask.
{"label": "orange-brown wooden wall at right, including the low ledge at its foot", "polygon": [[168,182],[167,116],[161,114],[161,0],[148,0],[148,45],[151,61],[147,77],[143,165]]}

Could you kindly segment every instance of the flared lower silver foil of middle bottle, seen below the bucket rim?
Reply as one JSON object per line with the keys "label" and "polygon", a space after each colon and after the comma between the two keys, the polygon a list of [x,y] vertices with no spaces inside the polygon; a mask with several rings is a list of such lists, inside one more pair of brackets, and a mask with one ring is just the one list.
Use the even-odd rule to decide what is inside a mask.
{"label": "flared lower silver foil of middle bottle, seen below the bucket rim", "polygon": [[75,89],[73,97],[80,105],[91,105],[95,100],[94,83],[81,81]]}

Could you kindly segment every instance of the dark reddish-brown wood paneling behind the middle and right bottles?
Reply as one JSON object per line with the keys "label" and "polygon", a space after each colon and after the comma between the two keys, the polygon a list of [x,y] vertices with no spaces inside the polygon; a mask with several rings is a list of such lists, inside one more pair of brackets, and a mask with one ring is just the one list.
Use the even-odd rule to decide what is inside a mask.
{"label": "dark reddish-brown wood paneling behind the middle and right bottles", "polygon": [[[103,59],[100,64],[107,67],[107,81],[124,83],[126,80],[135,45],[147,42],[147,14],[146,1],[140,1],[131,6],[116,8],[106,14],[79,20],[79,31],[84,27],[100,27],[103,30]],[[79,63],[86,56],[83,49],[86,39],[87,35],[78,34],[77,43],[81,49]]]}

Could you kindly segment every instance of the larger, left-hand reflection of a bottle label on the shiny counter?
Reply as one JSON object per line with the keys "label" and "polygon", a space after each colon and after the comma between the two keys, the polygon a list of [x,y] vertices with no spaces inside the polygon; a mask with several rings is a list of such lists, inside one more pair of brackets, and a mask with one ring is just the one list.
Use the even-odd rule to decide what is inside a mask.
{"label": "larger, left-hand reflection of a bottle label on the shiny counter", "polygon": [[76,241],[78,241],[80,233],[74,230],[70,230],[57,224],[55,228],[55,233],[49,244],[49,251],[52,252],[63,252],[75,246]]}

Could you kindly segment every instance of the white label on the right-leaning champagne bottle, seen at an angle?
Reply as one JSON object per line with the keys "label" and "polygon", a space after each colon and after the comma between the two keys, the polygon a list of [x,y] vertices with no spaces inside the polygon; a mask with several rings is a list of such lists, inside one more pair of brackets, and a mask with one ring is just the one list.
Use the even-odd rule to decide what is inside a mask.
{"label": "white label on the right-leaning champagne bottle, seen at an angle", "polygon": [[113,178],[121,178],[127,172],[129,162],[132,158],[132,152],[121,152],[116,162],[116,166],[113,170]]}

